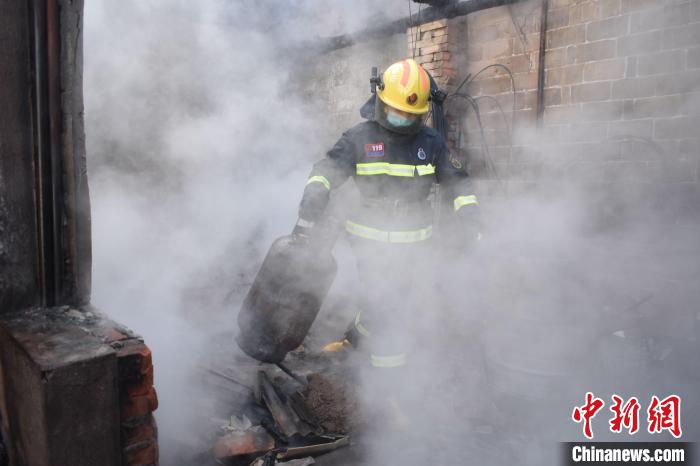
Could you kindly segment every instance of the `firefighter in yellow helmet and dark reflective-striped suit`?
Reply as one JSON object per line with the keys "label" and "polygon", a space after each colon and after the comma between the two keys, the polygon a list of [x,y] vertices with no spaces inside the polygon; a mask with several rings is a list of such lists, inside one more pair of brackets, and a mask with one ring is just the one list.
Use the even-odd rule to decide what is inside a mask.
{"label": "firefighter in yellow helmet and dark reflective-striped suit", "polygon": [[412,345],[406,310],[420,273],[416,265],[433,254],[435,183],[462,225],[460,241],[470,243],[478,234],[478,201],[467,174],[450,158],[443,138],[425,125],[430,100],[431,78],[423,67],[412,59],[389,66],[361,111],[366,121],[343,133],[314,164],[293,232],[308,236],[331,193],[354,178],[361,201],[344,226],[365,296],[345,343],[357,347],[366,341],[370,364],[377,368],[407,362]]}

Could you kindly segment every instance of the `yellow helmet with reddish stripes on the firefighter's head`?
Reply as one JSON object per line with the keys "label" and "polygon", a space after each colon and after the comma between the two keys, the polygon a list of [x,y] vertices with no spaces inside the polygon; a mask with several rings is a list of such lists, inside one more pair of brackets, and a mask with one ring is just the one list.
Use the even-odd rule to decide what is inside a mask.
{"label": "yellow helmet with reddish stripes on the firefighter's head", "polygon": [[413,59],[396,62],[384,71],[377,96],[397,110],[414,115],[426,114],[430,110],[430,78]]}

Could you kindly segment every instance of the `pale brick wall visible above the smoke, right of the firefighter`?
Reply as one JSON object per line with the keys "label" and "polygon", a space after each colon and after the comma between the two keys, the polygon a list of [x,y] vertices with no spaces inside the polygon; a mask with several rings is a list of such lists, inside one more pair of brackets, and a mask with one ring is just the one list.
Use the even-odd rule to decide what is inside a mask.
{"label": "pale brick wall visible above the smoke, right of the firefighter", "polygon": [[[504,121],[494,100],[478,101],[495,170],[473,110],[460,98],[448,105],[452,143],[482,186],[500,185],[497,177],[509,190],[544,180],[697,184],[700,0],[550,0],[546,110],[536,131],[540,16],[539,0],[483,10],[447,21],[447,45],[437,44],[450,91],[493,63],[515,78],[514,113],[505,71],[486,71],[466,89],[506,113]],[[431,44],[421,39],[423,60]],[[442,78],[436,61],[426,66]]]}

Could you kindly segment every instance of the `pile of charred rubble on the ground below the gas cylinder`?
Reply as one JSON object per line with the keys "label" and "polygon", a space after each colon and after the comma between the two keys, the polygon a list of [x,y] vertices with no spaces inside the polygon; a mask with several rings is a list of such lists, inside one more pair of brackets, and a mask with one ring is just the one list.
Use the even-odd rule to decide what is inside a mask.
{"label": "pile of charred rubble on the ground below the gas cylinder", "polygon": [[290,360],[293,369],[259,364],[208,370],[250,395],[247,405],[232,407],[235,412],[216,432],[217,463],[305,466],[315,463],[314,456],[350,444],[358,425],[352,379],[303,352]]}

